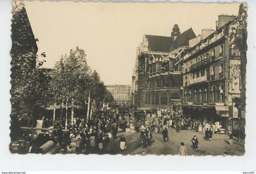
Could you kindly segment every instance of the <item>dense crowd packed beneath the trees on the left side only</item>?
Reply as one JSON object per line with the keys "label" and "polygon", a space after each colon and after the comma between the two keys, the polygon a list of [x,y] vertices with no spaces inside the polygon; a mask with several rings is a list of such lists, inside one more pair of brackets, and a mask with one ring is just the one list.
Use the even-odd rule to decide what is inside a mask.
{"label": "dense crowd packed beneath the trees on the left side only", "polygon": [[[85,118],[75,118],[74,124],[69,124],[65,130],[59,123],[55,122],[54,131],[32,133],[24,131],[23,137],[26,147],[30,153],[40,152],[39,147],[48,141],[60,146],[60,153],[95,153],[115,151],[115,139],[118,131],[125,131],[127,122],[132,116],[130,110],[99,110],[98,116],[90,120]],[[49,120],[43,120],[44,124],[49,124]],[[51,124],[48,125],[50,127]],[[119,147],[125,150],[126,139],[121,136]],[[111,145],[109,145],[111,144]]]}

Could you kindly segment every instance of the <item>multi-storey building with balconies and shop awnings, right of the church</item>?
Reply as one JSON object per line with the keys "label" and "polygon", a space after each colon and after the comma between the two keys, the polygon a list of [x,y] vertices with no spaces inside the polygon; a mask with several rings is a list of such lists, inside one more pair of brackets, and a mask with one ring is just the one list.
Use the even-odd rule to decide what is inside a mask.
{"label": "multi-storey building with balconies and shop awnings, right of the church", "polygon": [[[244,117],[246,10],[219,16],[215,32],[194,44],[181,59],[183,115],[208,123],[220,122],[226,132],[233,117]],[[191,43],[191,42],[190,42]]]}

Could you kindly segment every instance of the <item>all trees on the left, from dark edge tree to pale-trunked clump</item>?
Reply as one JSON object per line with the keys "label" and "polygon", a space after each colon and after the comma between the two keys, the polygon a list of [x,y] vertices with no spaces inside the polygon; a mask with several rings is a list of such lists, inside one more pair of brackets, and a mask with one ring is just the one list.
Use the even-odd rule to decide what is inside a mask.
{"label": "all trees on the left, from dark edge tree to pale-trunked clump", "polygon": [[13,1],[12,7],[12,138],[20,136],[20,126],[34,127],[37,119],[49,113],[45,109],[51,108],[55,119],[57,108],[61,108],[61,120],[66,110],[67,124],[71,108],[74,124],[75,106],[84,108],[84,117],[91,119],[93,111],[102,103],[113,102],[99,74],[88,66],[85,51],[78,47],[60,58],[54,69],[46,73],[46,69],[41,68],[45,61],[41,58],[46,54],[37,55],[38,39],[34,37],[23,2]]}

